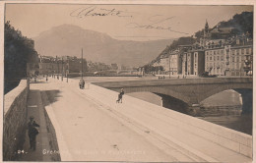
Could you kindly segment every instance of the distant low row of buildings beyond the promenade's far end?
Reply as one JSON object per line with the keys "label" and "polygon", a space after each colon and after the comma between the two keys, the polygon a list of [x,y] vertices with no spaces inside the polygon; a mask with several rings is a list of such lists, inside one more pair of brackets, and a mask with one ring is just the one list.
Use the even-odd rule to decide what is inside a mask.
{"label": "distant low row of buildings beyond the promenade's far end", "polygon": [[52,57],[52,56],[39,56],[38,63],[28,64],[27,71],[29,76],[33,75],[53,75],[61,74],[67,75],[78,75],[81,74],[83,69],[84,73],[117,73],[127,68],[119,66],[115,63],[106,65],[104,63],[87,61],[86,59],[77,58],[75,56],[63,56],[63,57]]}

